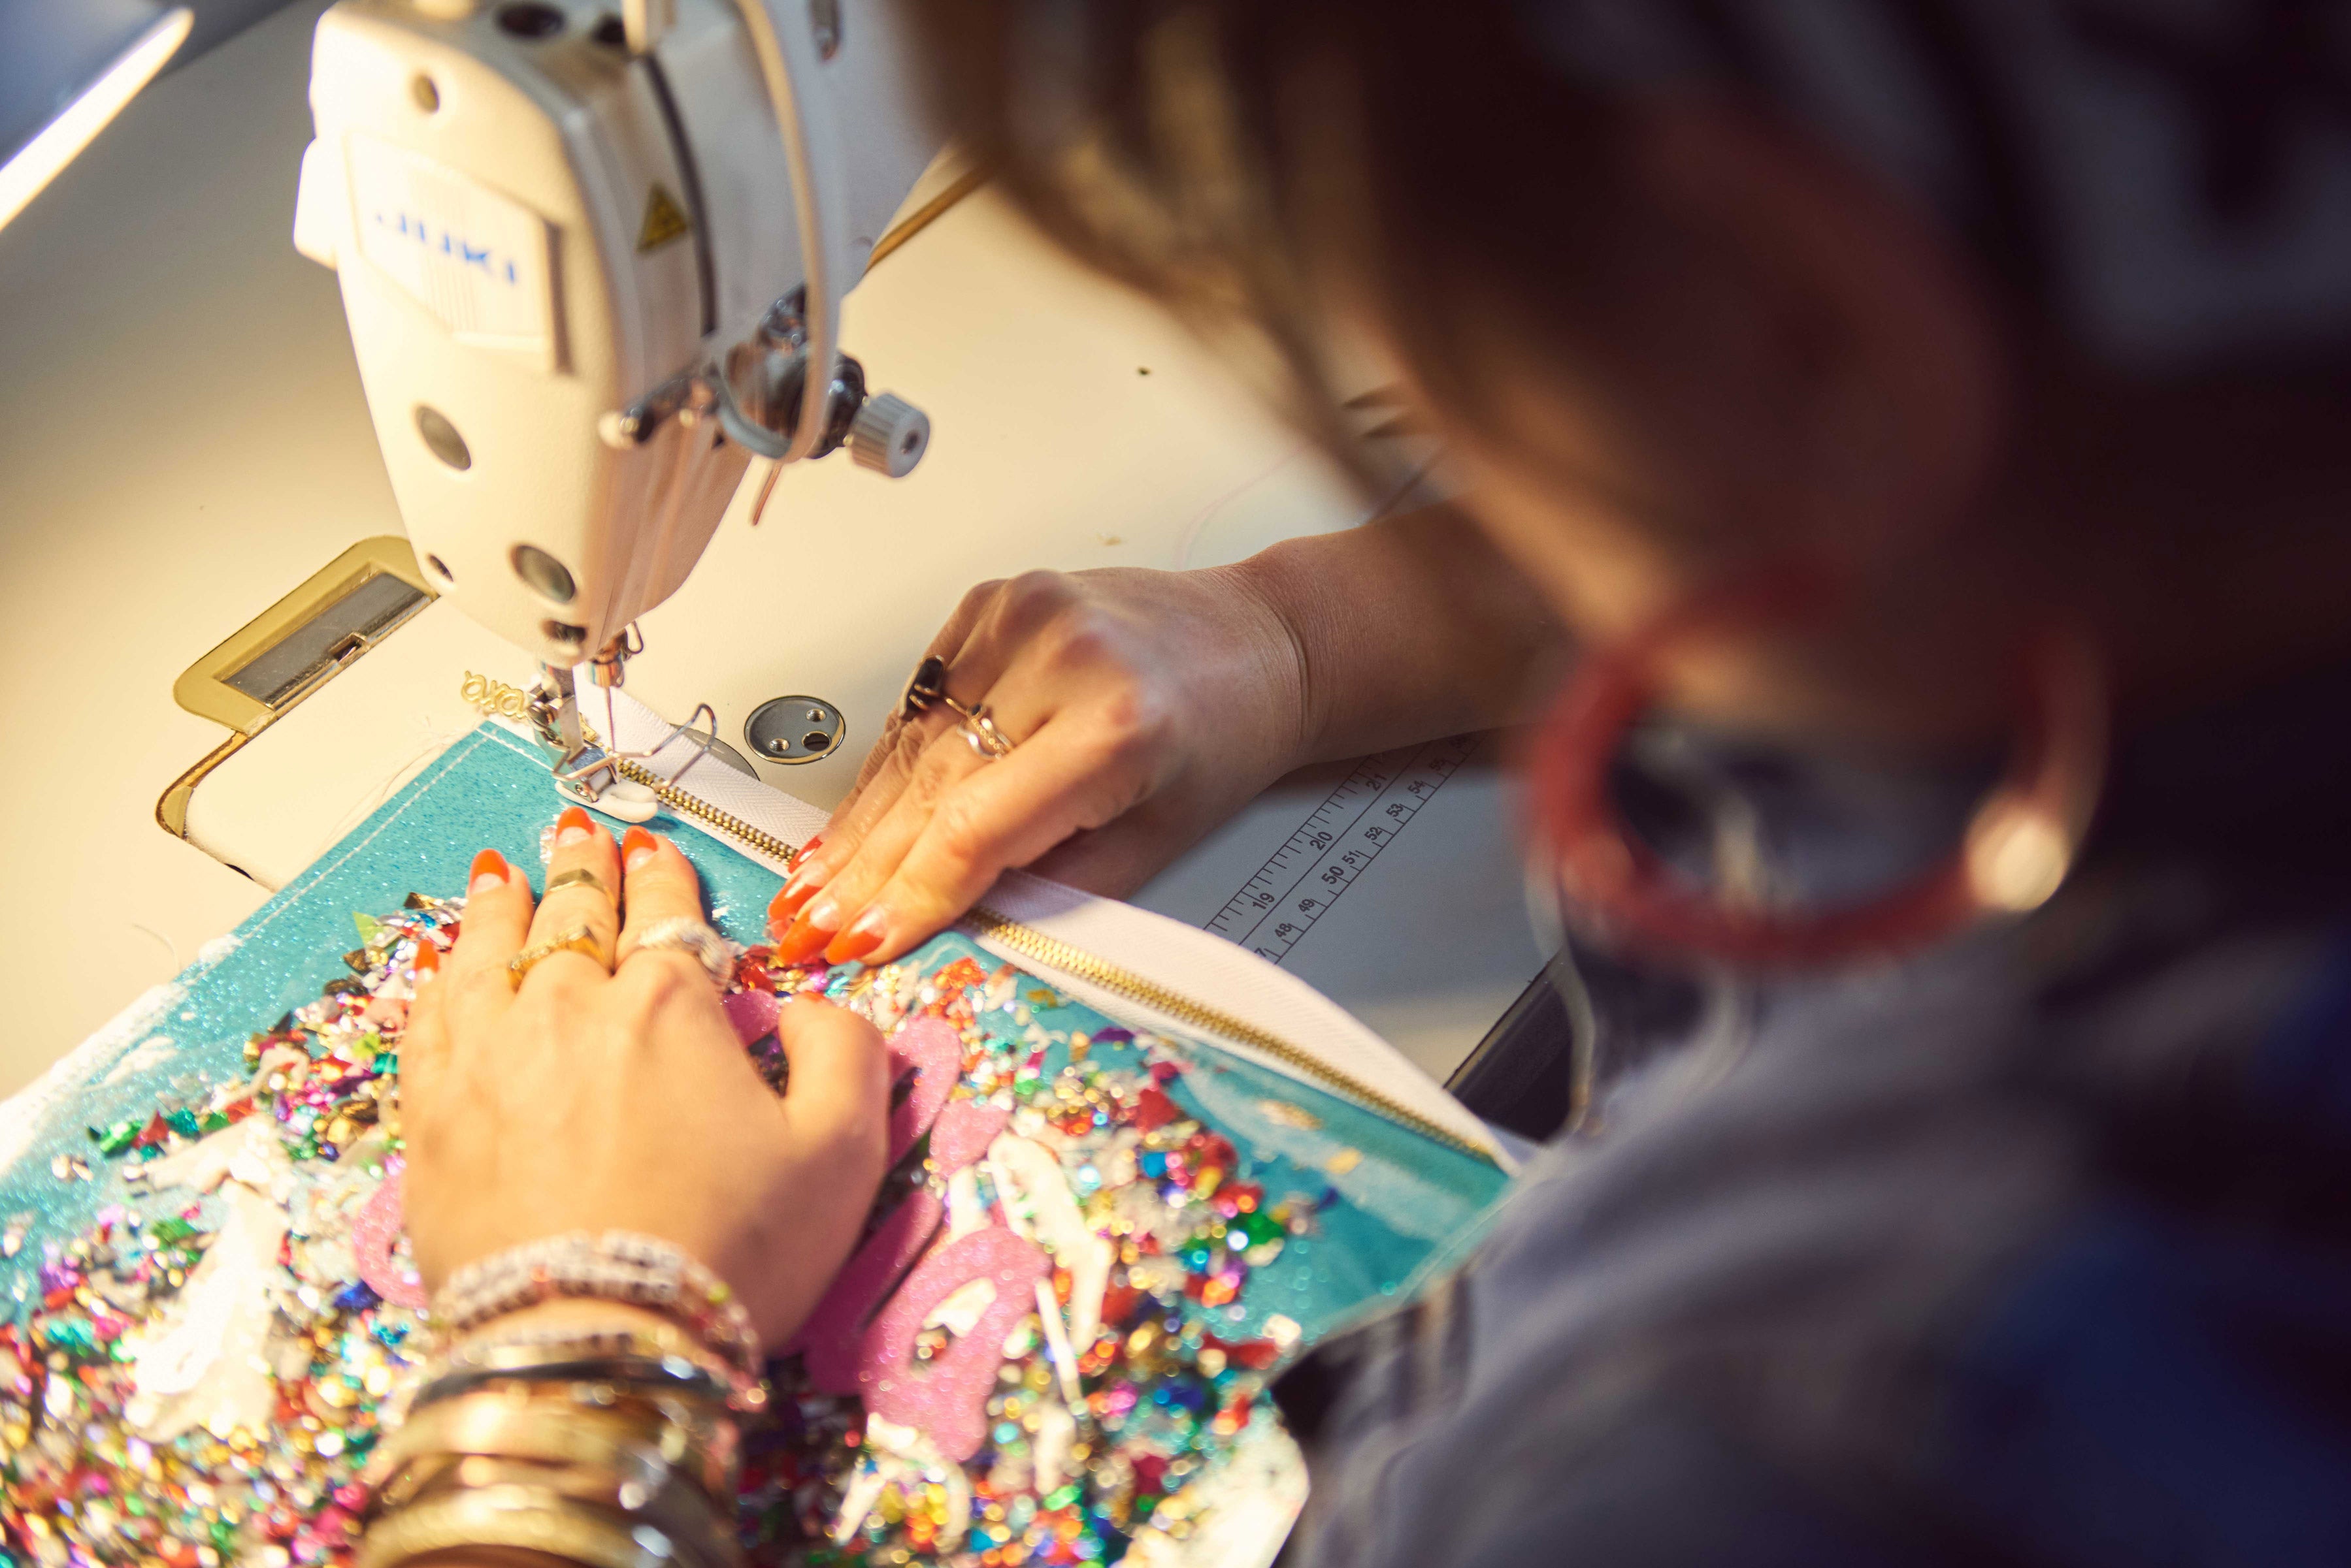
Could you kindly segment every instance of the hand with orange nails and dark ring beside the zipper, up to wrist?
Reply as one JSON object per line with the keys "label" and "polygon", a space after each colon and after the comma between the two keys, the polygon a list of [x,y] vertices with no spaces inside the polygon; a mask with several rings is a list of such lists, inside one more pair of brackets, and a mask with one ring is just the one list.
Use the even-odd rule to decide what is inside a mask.
{"label": "hand with orange nails and dark ring beside the zipper, up to wrist", "polygon": [[785,961],[893,959],[1011,865],[1133,891],[1302,759],[1300,649],[1244,569],[983,583],[929,651],[1016,745],[893,715],[769,910]]}

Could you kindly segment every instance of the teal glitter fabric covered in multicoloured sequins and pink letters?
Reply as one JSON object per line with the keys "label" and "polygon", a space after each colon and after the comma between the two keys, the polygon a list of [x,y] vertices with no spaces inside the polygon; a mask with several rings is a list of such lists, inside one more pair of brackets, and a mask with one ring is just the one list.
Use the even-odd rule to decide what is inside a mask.
{"label": "teal glitter fabric covered in multicoloured sequins and pink letters", "polygon": [[[503,757],[409,790],[480,813]],[[247,924],[242,966],[193,971],[169,1006],[219,1034],[216,992],[252,1006],[306,973],[308,999],[193,1060],[132,1044],[0,1173],[0,1563],[350,1559],[360,1467],[433,1345],[397,1234],[397,1065],[416,952],[454,940],[461,905],[346,903],[346,947],[320,940],[320,903],[482,837],[411,846],[444,813],[402,830],[400,804],[353,835],[367,853],[336,851],[341,875]],[[520,849],[541,799],[515,804]],[[776,884],[708,839],[689,853],[722,929]],[[306,905],[277,910],[301,954],[249,940],[282,900]],[[792,992],[877,1023],[905,1084],[868,1241],[806,1342],[778,1347],[773,1418],[748,1439],[750,1559],[1262,1559],[1302,1497],[1265,1380],[1441,1265],[1500,1175],[1138,1037],[962,936],[882,969],[745,950],[729,1016],[778,1084]]]}

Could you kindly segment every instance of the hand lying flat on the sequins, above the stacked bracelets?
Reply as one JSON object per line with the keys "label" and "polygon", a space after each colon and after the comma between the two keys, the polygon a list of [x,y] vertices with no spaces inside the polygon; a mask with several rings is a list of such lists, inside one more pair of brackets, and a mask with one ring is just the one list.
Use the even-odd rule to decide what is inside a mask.
{"label": "hand lying flat on the sequins, above the stacked bracelets", "polygon": [[[409,1013],[402,1197],[416,1265],[437,1288],[536,1237],[644,1232],[717,1269],[778,1345],[842,1267],[882,1180],[882,1039],[830,1004],[788,1004],[790,1093],[776,1098],[701,964],[637,950],[656,922],[703,917],[677,846],[632,827],[616,849],[574,806],[548,877],[569,870],[621,889],[625,924],[578,882],[534,910],[522,872],[482,851],[458,943]],[[574,926],[618,952],[614,973],[557,952],[510,987],[510,957]]]}

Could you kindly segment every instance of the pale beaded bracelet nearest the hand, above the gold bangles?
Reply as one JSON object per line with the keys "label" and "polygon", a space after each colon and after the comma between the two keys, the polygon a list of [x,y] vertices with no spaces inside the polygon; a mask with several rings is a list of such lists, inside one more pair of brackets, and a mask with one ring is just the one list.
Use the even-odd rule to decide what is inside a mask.
{"label": "pale beaded bracelet nearest the hand, above the gold bangles", "polygon": [[658,1312],[726,1356],[745,1378],[759,1378],[759,1333],[734,1288],[682,1246],[625,1229],[576,1229],[468,1262],[433,1298],[433,1316],[449,1333],[465,1333],[494,1316],[562,1298]]}

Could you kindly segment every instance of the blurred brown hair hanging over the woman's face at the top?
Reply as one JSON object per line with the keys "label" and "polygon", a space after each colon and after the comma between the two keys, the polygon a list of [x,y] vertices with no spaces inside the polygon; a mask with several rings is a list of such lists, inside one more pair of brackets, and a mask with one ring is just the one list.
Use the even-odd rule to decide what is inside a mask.
{"label": "blurred brown hair hanging over the woman's face at the top", "polygon": [[1307,259],[1342,256],[1411,376],[1474,409],[1472,310],[1505,301],[1575,353],[1568,301],[1608,299],[1636,249],[1617,115],[1502,0],[915,7],[952,134],[1013,202],[1227,348],[1359,477],[1380,461]]}

